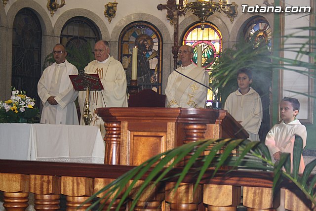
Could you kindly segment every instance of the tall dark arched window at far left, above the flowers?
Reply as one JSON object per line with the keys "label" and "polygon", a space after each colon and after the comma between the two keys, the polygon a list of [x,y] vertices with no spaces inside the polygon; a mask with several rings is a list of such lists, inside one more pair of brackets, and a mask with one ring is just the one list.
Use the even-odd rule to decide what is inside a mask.
{"label": "tall dark arched window at far left, above the flowers", "polygon": [[40,80],[41,26],[36,14],[28,8],[15,16],[12,29],[12,87],[25,90],[40,106],[37,84]]}

